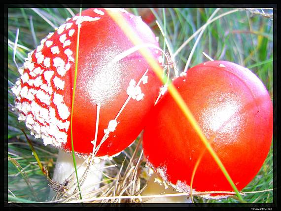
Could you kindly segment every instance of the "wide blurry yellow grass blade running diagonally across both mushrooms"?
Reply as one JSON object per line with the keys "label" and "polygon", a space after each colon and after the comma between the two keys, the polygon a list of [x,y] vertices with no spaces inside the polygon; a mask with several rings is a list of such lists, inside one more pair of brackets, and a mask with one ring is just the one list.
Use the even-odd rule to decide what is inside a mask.
{"label": "wide blurry yellow grass blade running diagonally across both mushrooms", "polygon": [[[236,11],[239,11],[239,10],[238,9],[232,10],[232,12],[236,12]],[[126,24],[126,20],[123,18],[122,15],[112,14],[111,12],[108,12],[108,14],[120,26],[120,28],[128,36],[128,38],[131,40],[132,43],[134,43],[135,45],[141,44],[140,38],[138,37],[138,35],[136,35],[133,32],[133,30],[128,26],[128,24]],[[212,19],[212,21],[214,19]],[[210,23],[211,23],[211,21],[210,21]],[[167,78],[165,78],[165,77],[162,78],[162,69],[160,68],[159,64],[157,64],[154,61],[154,59],[152,59],[153,57],[150,56],[150,52],[146,48],[140,48],[140,53],[146,59],[148,64],[152,67],[152,70],[156,73],[156,75],[163,82],[163,84],[165,84],[167,82]],[[228,182],[230,183],[230,185],[232,186],[232,188],[236,192],[239,200],[241,202],[245,202],[242,199],[242,197],[241,197],[241,195],[240,195],[236,185],[234,184],[233,180],[229,176],[229,174],[228,174],[227,170],[225,169],[224,165],[222,164],[221,160],[219,159],[219,157],[217,156],[217,154],[215,153],[215,151],[211,147],[211,144],[209,143],[209,141],[205,137],[204,133],[202,132],[201,128],[199,127],[199,125],[198,125],[196,119],[194,118],[193,114],[191,113],[191,111],[189,110],[188,106],[185,104],[185,102],[183,101],[182,97],[180,96],[180,94],[176,90],[176,87],[173,84],[169,84],[168,90],[169,90],[171,96],[174,98],[176,104],[179,106],[179,108],[183,112],[184,116],[187,118],[187,120],[190,122],[192,127],[197,132],[198,136],[200,137],[200,140],[204,143],[204,145],[206,146],[206,148],[210,152],[211,156],[213,157],[214,161],[219,166],[219,168],[222,171],[222,173],[224,174],[224,176],[227,178]]]}

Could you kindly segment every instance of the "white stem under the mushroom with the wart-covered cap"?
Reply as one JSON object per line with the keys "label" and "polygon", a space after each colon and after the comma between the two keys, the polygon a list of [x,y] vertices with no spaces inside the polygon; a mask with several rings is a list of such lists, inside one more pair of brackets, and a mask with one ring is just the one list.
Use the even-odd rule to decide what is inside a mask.
{"label": "white stem under the mushroom with the wart-covered cap", "polygon": [[[77,155],[75,155],[75,160],[81,191],[85,190],[89,192],[98,189],[100,187],[103,175],[101,169],[105,166],[105,161],[101,159],[99,163],[93,162],[89,167],[86,179],[82,182],[83,174],[87,170],[87,166],[90,160],[85,161],[83,157],[78,157]],[[77,184],[73,185],[73,183],[76,183],[76,176],[71,153],[65,152],[61,149],[59,150],[52,180],[60,184],[66,184],[68,188],[68,190],[66,191],[67,194],[73,193],[73,191],[77,187]],[[54,191],[51,190],[49,198],[51,199],[54,194]]]}

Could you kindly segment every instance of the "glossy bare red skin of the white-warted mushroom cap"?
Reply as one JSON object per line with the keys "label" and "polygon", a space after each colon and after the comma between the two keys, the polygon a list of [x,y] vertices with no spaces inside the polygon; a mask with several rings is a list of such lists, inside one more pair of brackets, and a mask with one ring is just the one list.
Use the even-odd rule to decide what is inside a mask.
{"label": "glossy bare red skin of the white-warted mushroom cap", "polygon": [[[159,93],[159,87],[162,83],[138,51],[118,61],[113,66],[107,67],[108,63],[115,56],[134,45],[117,23],[108,15],[107,10],[99,8],[96,11],[98,13],[95,12],[94,8],[90,8],[84,10],[81,14],[82,16],[88,16],[88,18],[94,17],[99,19],[94,21],[85,19],[80,28],[78,69],[72,119],[73,145],[76,153],[90,154],[93,151],[91,141],[94,140],[96,132],[97,104],[101,104],[98,145],[105,135],[104,130],[107,128],[108,122],[115,118],[129,97],[126,92],[129,82],[134,79],[138,83],[141,76],[148,69],[146,74],[148,76],[147,83],[140,83],[141,91],[144,94],[143,99],[140,101],[131,99],[129,101],[117,119],[118,125],[116,130],[109,134],[109,137],[97,153],[97,156],[111,156],[129,146],[140,134],[144,127],[147,113],[154,106]],[[114,13],[122,13],[128,22],[128,27],[135,31],[143,43],[152,43],[159,46],[155,35],[139,17],[119,10],[112,11],[112,14]],[[67,48],[72,52],[71,56],[75,59],[78,32],[77,22],[72,18],[67,23],[72,23],[70,29],[65,29],[61,34],[58,33],[59,29],[48,39],[52,41],[52,46],[59,47],[60,55],[53,53],[49,47],[44,45],[41,52],[44,58],[51,58],[50,68],[44,68],[42,65],[34,63],[35,68],[44,68],[44,71],[55,70],[53,59],[56,57],[60,57],[67,64],[68,59],[70,59],[66,55],[65,50]],[[74,30],[71,35],[70,30]],[[71,44],[67,47],[62,44],[63,35],[66,35],[67,39],[71,41]],[[156,53],[155,49],[150,50],[151,55],[158,61],[160,52]],[[32,59],[36,62],[35,53],[32,55]],[[75,69],[74,61],[70,62],[70,64],[70,70],[64,76],[61,77],[55,71],[51,78],[53,89],[56,90],[57,94],[63,96],[64,103],[68,106],[69,111],[71,110]],[[24,72],[29,72],[29,70],[26,69]],[[55,76],[59,76],[64,81],[64,89],[55,88],[53,83]],[[44,78],[42,77],[42,79]],[[70,116],[65,120],[60,118],[53,100],[54,96],[51,97],[52,102],[50,106],[40,101],[37,104],[46,108],[54,107],[56,109],[56,118],[63,122],[70,121]],[[60,131],[66,132],[66,130]],[[61,148],[71,151],[70,127],[67,131],[67,136],[67,142],[63,143]]]}

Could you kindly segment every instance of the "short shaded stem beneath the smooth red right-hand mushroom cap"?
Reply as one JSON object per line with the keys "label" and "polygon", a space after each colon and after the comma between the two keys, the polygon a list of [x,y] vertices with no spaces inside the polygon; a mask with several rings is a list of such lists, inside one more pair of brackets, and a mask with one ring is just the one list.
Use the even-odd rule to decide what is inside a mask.
{"label": "short shaded stem beneath the smooth red right-hand mushroom cap", "polygon": [[[162,180],[155,173],[152,173],[149,176],[147,186],[141,192],[141,195],[149,196],[149,195],[178,193],[172,186],[168,184],[164,184],[161,181]],[[187,196],[173,196],[173,197],[163,196],[163,197],[148,199],[147,201],[143,201],[143,203],[191,203],[191,201]]]}

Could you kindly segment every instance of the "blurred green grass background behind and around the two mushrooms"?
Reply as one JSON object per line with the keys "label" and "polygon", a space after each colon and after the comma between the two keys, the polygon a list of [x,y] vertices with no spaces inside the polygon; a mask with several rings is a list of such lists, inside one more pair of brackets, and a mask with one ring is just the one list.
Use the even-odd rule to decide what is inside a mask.
{"label": "blurred green grass background behind and around the two mushrooms", "polygon": [[[84,8],[83,8],[84,9]],[[152,13],[165,33],[172,52],[203,26],[215,8],[127,8],[137,16]],[[217,14],[234,10],[221,8]],[[48,182],[40,170],[33,152],[21,129],[28,134],[41,163],[52,175],[57,149],[44,146],[42,141],[34,140],[24,123],[19,123],[17,114],[12,110],[14,96],[10,88],[19,77],[17,71],[27,54],[35,49],[40,40],[77,14],[79,8],[8,8],[8,201],[44,202],[49,193]],[[168,51],[167,43],[156,21],[149,26],[159,36],[160,47]],[[18,31],[18,40],[17,39]],[[191,49],[199,37],[197,34],[176,56],[178,71],[182,71],[190,56]],[[17,43],[16,51],[14,49]],[[226,60],[252,70],[267,87],[273,99],[273,17],[271,9],[241,9],[223,16],[205,29],[191,57],[189,67],[208,61],[202,52],[214,60]],[[15,62],[16,63],[15,63]],[[17,65],[16,65],[17,64]],[[172,71],[173,73],[173,71]],[[138,141],[138,140],[137,140]],[[136,144],[114,158],[120,168],[125,154],[132,155]],[[144,166],[142,164],[141,166]],[[273,145],[258,175],[243,189],[254,191],[243,196],[249,203],[273,203]],[[267,190],[265,192],[259,192]],[[40,193],[40,194],[39,194]],[[194,197],[198,203],[239,203],[233,197],[223,200],[206,200]]]}

